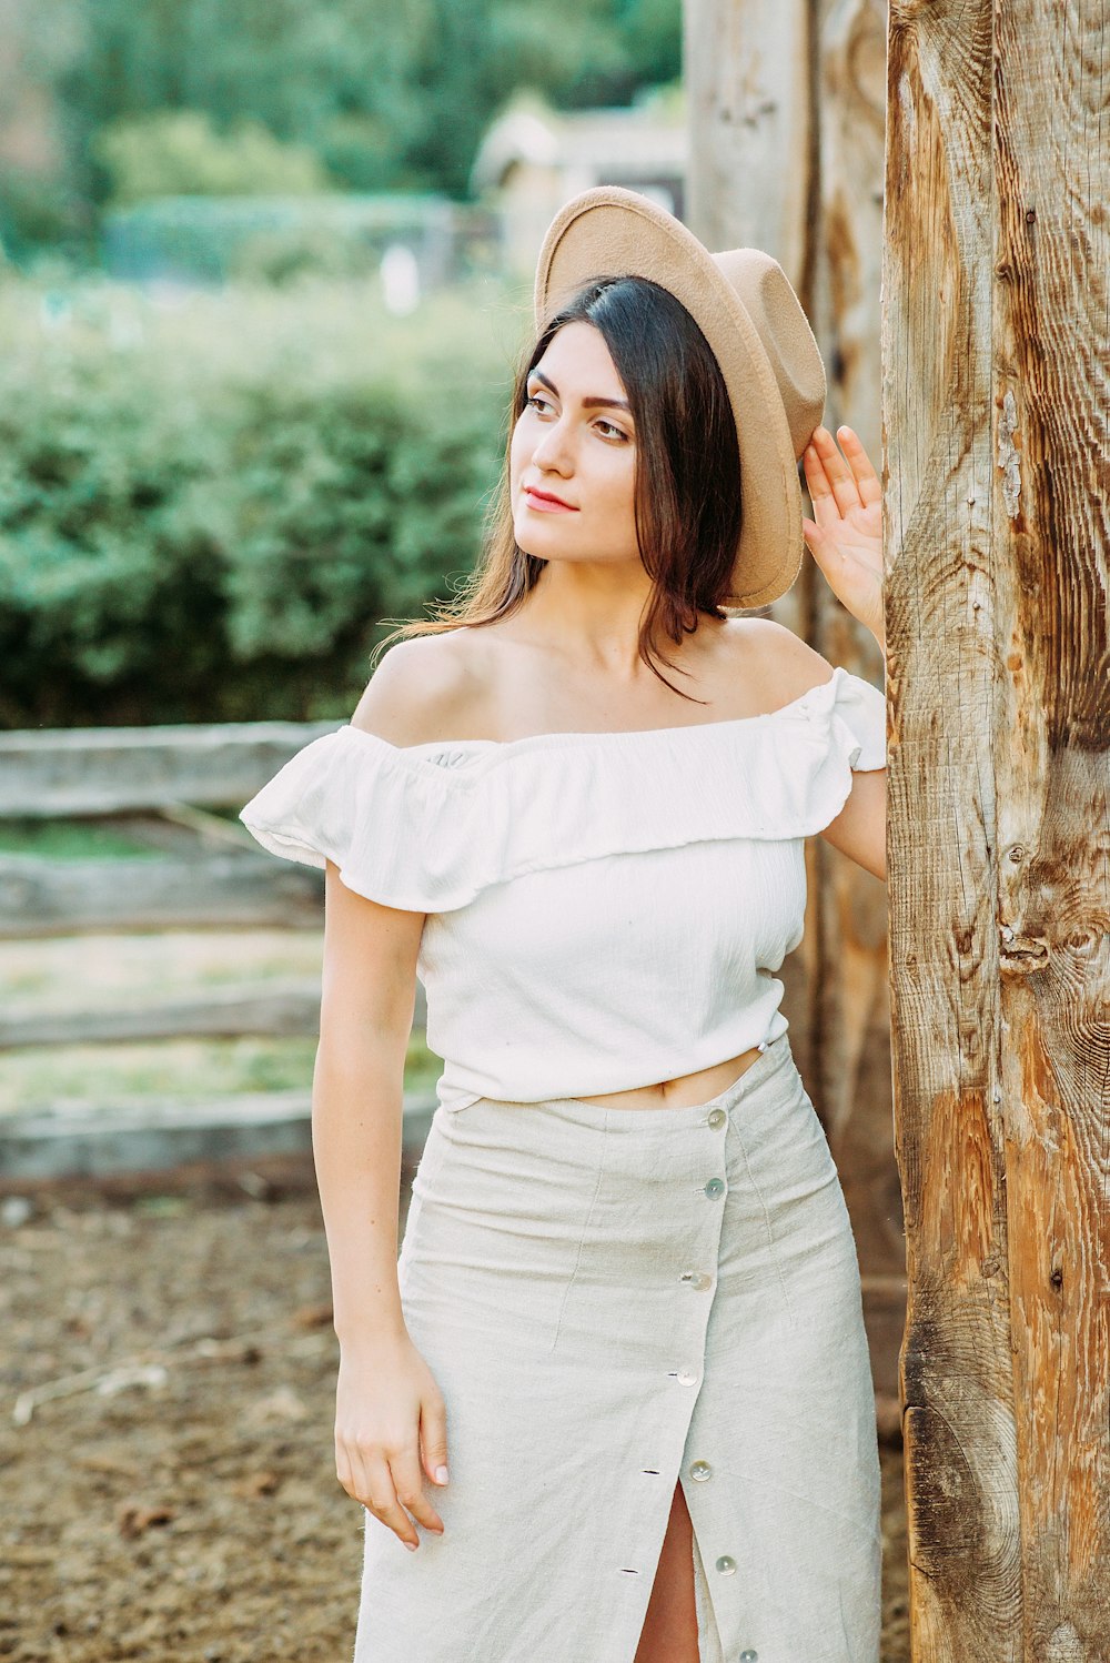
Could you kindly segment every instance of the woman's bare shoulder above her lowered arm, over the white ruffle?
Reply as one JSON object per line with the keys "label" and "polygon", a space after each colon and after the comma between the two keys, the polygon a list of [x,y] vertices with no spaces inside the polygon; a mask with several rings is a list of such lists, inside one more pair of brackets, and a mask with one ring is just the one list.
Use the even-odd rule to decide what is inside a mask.
{"label": "woman's bare shoulder above her lowered arm, over the white ruffle", "polygon": [[409,635],[382,654],[351,725],[390,745],[469,738],[479,730],[485,690],[472,630]]}

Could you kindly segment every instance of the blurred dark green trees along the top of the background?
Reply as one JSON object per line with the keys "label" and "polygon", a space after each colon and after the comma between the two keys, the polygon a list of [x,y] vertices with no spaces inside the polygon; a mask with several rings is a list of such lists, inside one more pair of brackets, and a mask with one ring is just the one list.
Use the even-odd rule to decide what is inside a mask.
{"label": "blurred dark green trees along the top of the background", "polygon": [[189,145],[198,176],[236,153],[241,168],[261,166],[239,128],[253,121],[341,188],[465,196],[480,136],[517,88],[563,108],[620,105],[681,68],[681,0],[12,0],[8,10],[10,62],[45,93],[63,151],[47,213],[43,180],[28,191],[12,170],[0,176],[0,236],[13,246],[91,234],[121,175],[146,176],[135,145],[121,163],[98,135],[115,135],[116,148],[121,135],[138,141],[141,120],[161,111],[211,123],[203,138],[181,126],[173,145],[176,130],[150,130],[161,168]]}

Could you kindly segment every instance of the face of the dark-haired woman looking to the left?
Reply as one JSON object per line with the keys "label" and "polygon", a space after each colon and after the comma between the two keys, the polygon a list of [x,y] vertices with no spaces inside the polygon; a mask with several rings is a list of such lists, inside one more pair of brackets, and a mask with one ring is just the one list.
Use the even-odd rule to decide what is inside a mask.
{"label": "face of the dark-haired woman looking to the left", "polygon": [[636,432],[600,331],[565,324],[527,392],[508,454],[520,549],[540,560],[640,560]]}

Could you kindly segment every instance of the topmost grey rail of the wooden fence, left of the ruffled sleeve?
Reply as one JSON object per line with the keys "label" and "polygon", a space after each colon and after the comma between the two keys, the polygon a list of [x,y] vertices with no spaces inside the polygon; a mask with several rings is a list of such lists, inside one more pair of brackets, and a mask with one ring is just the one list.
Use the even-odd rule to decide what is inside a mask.
{"label": "topmost grey rail of the wooden fence, left of the ruffled sleeve", "polygon": [[218,722],[0,733],[0,820],[191,803],[241,808],[339,722]]}

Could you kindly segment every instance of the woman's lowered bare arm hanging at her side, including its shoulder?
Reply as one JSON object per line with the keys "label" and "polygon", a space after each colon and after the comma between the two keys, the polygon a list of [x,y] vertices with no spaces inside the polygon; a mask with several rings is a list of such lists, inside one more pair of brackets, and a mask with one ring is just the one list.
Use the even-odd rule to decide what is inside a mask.
{"label": "woman's lowered bare arm hanging at her side, including its shoulder", "polygon": [[[386,654],[352,725],[389,743],[434,727],[429,698],[449,677],[429,660]],[[327,861],[312,1152],[339,1337],[336,1475],[410,1548],[412,1520],[444,1528],[424,1477],[447,1483],[447,1410],[409,1337],[397,1281],[404,1066],[424,921],[347,888]]]}

